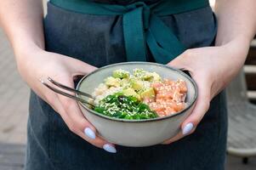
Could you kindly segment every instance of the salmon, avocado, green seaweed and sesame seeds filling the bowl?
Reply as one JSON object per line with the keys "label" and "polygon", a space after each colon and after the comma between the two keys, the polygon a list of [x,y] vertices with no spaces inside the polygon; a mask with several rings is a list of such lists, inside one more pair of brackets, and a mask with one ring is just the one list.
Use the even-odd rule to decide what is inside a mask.
{"label": "salmon, avocado, green seaweed and sesame seeds filling the bowl", "polygon": [[153,71],[118,69],[94,89],[94,111],[119,119],[169,116],[185,109],[185,81],[162,78]]}

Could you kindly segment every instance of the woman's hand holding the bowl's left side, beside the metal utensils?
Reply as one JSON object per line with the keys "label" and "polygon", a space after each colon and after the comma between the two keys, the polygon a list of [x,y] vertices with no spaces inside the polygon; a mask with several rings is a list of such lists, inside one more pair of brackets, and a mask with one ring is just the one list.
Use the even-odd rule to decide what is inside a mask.
{"label": "woman's hand holding the bowl's left side, beside the metal utensils", "polygon": [[106,151],[117,152],[114,144],[110,144],[96,135],[95,127],[82,115],[75,100],[54,93],[39,81],[52,77],[57,82],[74,88],[74,77],[86,75],[94,71],[96,67],[81,60],[46,52],[42,49],[30,50],[29,53],[22,55],[26,56],[17,58],[17,66],[21,77],[38,96],[60,114],[71,132]]}

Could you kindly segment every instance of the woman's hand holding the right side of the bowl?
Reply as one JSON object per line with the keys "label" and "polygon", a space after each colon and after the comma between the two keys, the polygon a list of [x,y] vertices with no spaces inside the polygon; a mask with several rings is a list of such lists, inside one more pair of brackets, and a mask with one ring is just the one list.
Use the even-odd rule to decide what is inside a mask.
{"label": "woman's hand holding the right side of the bowl", "polygon": [[234,40],[219,47],[191,48],[168,65],[189,71],[198,87],[198,98],[191,115],[181,124],[180,132],[163,144],[170,144],[193,133],[207,113],[211,99],[226,87],[242,68],[249,43]]}

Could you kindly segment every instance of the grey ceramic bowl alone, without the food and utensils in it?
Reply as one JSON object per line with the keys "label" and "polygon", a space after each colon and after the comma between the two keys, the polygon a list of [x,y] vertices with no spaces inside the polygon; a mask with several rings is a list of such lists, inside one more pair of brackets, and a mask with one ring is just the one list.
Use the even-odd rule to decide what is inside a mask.
{"label": "grey ceramic bowl alone, without the food and utensils in it", "polygon": [[[113,144],[124,146],[150,146],[160,144],[164,140],[174,137],[180,130],[180,124],[191,114],[196,103],[196,83],[183,71],[171,68],[167,65],[160,65],[148,62],[127,62],[114,65],[107,65],[87,76],[83,77],[77,85],[82,92],[92,94],[106,77],[110,77],[112,71],[123,69],[132,72],[135,68],[142,68],[145,71],[156,71],[161,77],[173,80],[182,79],[186,82],[188,93],[186,97],[187,107],[174,115],[157,117],[145,120],[123,120],[101,115],[92,111],[88,105],[79,103],[84,116],[96,127],[101,137]],[[82,98],[82,96],[79,96]]]}

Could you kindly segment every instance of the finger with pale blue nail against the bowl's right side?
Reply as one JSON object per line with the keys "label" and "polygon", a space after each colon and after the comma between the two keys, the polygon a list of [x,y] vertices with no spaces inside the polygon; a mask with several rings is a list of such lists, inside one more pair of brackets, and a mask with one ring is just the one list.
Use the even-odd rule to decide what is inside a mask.
{"label": "finger with pale blue nail against the bowl's right side", "polygon": [[[199,80],[199,81],[196,81]],[[191,115],[188,116],[181,125],[183,135],[188,135],[195,131],[202,117],[209,109],[210,105],[210,85],[203,77],[195,78],[198,87],[198,97],[196,99],[196,105]]]}

